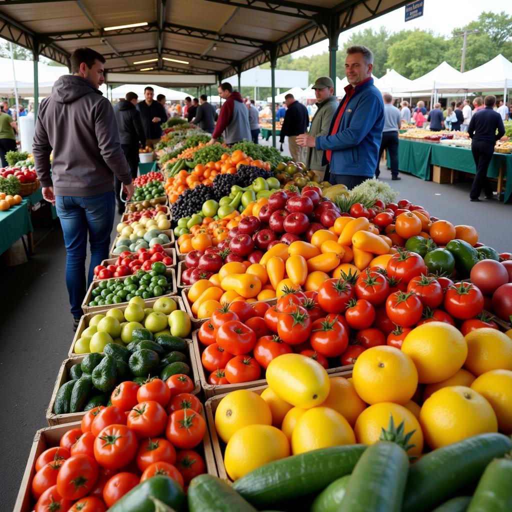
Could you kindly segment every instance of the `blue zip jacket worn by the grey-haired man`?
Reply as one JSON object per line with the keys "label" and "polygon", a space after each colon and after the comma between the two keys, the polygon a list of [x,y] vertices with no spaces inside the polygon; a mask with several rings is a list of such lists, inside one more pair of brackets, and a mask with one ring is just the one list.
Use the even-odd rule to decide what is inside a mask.
{"label": "blue zip jacket worn by the grey-haired man", "polygon": [[[349,84],[345,92],[351,87]],[[345,97],[332,118],[329,133],[344,101]],[[338,131],[334,135],[316,137],[316,149],[324,150],[322,164],[328,163],[325,150],[331,150],[331,174],[371,178],[377,166],[383,126],[384,102],[381,92],[373,85],[372,78],[356,86],[343,113]]]}

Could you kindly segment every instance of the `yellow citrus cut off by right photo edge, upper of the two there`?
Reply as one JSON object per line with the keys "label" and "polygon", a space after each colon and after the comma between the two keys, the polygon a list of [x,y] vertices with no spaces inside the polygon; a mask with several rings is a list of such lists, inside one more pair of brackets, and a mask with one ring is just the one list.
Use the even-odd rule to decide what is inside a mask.
{"label": "yellow citrus cut off by right photo edge, upper of the two there", "polygon": [[497,329],[483,327],[466,334],[464,366],[477,377],[490,370],[512,370],[512,338]]}

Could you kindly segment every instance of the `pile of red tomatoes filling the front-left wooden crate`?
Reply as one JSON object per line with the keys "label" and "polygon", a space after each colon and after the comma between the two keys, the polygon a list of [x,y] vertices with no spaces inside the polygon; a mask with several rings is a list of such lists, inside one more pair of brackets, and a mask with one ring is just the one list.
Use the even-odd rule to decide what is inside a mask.
{"label": "pile of red tomatoes filling the front-left wooden crate", "polygon": [[206,422],[194,383],[183,374],[142,386],[121,382],[111,407],[86,413],[59,446],[36,461],[35,512],[104,512],[140,482],[165,475],[185,488],[205,473]]}

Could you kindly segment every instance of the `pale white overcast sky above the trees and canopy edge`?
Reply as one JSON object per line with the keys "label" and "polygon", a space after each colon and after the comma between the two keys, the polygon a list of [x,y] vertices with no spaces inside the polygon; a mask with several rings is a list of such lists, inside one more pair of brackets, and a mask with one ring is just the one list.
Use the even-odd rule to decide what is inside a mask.
{"label": "pale white overcast sky above the trees and canopy edge", "polygon": [[[405,9],[405,7],[400,7],[389,14],[379,16],[367,23],[343,32],[339,36],[339,47],[342,47],[354,32],[359,32],[366,28],[378,30],[381,26],[385,26],[391,32],[398,32],[403,29],[432,29],[441,35],[449,35],[452,33],[453,28],[463,27],[477,19],[482,11],[505,11],[507,14],[512,14],[512,2],[503,0],[464,0],[464,2],[455,2],[455,0],[425,0],[423,16],[407,23],[404,22]],[[328,50],[328,42],[322,41],[292,55],[293,57],[311,56],[327,52]]]}

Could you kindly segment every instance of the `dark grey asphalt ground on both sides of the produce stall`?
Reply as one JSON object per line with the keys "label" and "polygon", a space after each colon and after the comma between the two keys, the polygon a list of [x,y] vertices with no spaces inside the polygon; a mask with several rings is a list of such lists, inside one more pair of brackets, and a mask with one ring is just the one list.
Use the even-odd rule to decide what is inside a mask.
{"label": "dark grey asphalt ground on both sides of the produce stall", "polygon": [[[407,174],[401,177],[391,181],[390,172],[381,166],[380,178],[399,191],[399,198],[422,205],[440,219],[475,226],[480,240],[500,252],[512,249],[512,205],[497,200],[470,202],[471,182],[450,185]],[[0,467],[5,470],[0,486],[2,510],[12,509],[34,434],[47,426],[46,410],[57,372],[73,339],[65,283],[66,251],[58,220],[51,226],[36,227],[34,237],[35,252],[28,263],[7,267],[0,261],[0,383],[4,396],[0,429],[7,441],[0,454]]]}

